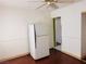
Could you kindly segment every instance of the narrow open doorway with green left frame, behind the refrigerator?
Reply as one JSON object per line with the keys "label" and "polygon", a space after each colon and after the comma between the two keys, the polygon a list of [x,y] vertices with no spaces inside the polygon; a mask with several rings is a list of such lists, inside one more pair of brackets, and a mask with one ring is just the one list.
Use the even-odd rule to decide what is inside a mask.
{"label": "narrow open doorway with green left frame, behind the refrigerator", "polygon": [[61,26],[61,17],[53,18],[53,39],[54,39],[54,48],[61,51],[62,46],[62,26]]}

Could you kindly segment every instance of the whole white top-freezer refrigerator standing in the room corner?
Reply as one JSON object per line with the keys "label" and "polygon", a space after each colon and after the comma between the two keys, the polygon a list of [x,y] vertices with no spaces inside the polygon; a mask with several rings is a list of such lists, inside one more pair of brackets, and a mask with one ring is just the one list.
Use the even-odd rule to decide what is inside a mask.
{"label": "whole white top-freezer refrigerator standing in the room corner", "polygon": [[30,24],[28,25],[30,55],[38,60],[49,55],[49,36],[48,25]]}

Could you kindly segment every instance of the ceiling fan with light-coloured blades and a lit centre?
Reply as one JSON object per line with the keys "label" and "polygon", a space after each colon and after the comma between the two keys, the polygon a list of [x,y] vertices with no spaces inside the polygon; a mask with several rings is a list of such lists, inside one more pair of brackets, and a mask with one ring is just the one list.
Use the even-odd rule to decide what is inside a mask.
{"label": "ceiling fan with light-coloured blades and a lit centre", "polygon": [[[28,2],[30,2],[30,1],[28,1]],[[39,2],[39,1],[32,1],[32,2]],[[66,1],[66,0],[65,1],[64,0],[63,1],[60,1],[60,0],[45,0],[45,1],[40,1],[40,2],[44,2],[44,4],[39,5],[36,9],[40,9],[44,5],[49,5],[53,9],[58,9],[59,7],[57,5],[57,3],[72,3],[72,2],[74,2],[74,0],[70,0],[70,1]]]}

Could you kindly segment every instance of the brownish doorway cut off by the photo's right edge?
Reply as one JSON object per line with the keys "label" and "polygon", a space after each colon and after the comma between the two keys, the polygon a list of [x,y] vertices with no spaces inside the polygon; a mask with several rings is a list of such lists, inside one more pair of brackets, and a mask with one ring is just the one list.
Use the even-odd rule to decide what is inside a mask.
{"label": "brownish doorway cut off by the photo's right edge", "polygon": [[86,12],[82,13],[82,59],[86,62]]}

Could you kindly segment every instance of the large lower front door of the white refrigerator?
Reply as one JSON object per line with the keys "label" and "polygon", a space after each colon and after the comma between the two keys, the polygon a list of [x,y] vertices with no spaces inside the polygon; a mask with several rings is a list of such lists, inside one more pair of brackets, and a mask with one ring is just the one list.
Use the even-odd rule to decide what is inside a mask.
{"label": "large lower front door of the white refrigerator", "polygon": [[48,55],[49,55],[49,37],[48,36],[38,37],[35,60]]}

